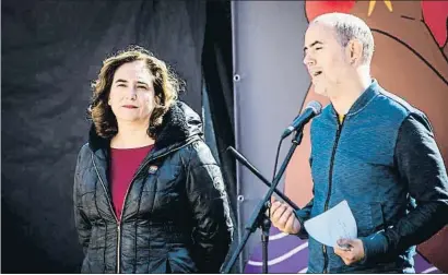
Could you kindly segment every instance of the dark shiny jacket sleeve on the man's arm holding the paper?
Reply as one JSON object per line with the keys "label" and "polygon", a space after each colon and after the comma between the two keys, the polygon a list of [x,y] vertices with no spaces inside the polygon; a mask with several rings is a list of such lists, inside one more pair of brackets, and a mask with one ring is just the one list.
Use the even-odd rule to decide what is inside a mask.
{"label": "dark shiny jacket sleeve on the man's arm holding the paper", "polygon": [[400,179],[408,186],[412,210],[385,231],[361,238],[365,261],[387,261],[429,239],[448,223],[447,171],[424,115],[412,113],[403,121],[396,164]]}

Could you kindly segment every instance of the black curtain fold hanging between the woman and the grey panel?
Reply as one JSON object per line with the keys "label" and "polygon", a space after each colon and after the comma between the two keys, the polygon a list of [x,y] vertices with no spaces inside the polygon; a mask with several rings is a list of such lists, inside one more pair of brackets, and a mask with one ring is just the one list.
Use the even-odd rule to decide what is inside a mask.
{"label": "black curtain fold hanging between the woman and the grey panel", "polygon": [[[235,147],[234,131],[234,93],[232,58],[232,14],[231,1],[208,1],[205,36],[202,51],[204,92],[207,93],[210,117],[213,123],[214,142],[227,191],[231,199],[232,218],[234,220],[234,242],[228,258],[234,252],[238,239],[239,220],[236,219],[236,160],[226,152]],[[235,263],[234,273],[240,271]]]}

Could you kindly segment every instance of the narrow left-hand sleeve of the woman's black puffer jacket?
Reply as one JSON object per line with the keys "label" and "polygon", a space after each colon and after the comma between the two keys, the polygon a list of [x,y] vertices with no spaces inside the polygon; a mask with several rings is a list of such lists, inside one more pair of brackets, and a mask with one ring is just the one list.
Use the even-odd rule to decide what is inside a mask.
{"label": "narrow left-hand sleeve of the woman's black puffer jacket", "polygon": [[85,255],[85,253],[87,252],[89,242],[91,239],[92,226],[81,204],[81,193],[80,193],[80,186],[82,184],[82,181],[80,179],[80,171],[81,171],[80,164],[81,164],[81,158],[82,158],[81,155],[82,153],[80,152],[78,156],[76,168],[74,171],[73,206],[74,206],[74,225],[76,227],[78,237],[79,237],[80,243],[82,244],[82,249]]}

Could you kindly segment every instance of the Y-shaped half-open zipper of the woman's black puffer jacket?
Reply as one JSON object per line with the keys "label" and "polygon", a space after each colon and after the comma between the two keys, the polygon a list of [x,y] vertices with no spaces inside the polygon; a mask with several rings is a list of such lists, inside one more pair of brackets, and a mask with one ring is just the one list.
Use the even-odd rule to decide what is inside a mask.
{"label": "Y-shaped half-open zipper of the woman's black puffer jacket", "polygon": [[[194,140],[192,140],[191,142],[193,142],[193,141],[194,141]],[[121,206],[120,219],[118,219],[117,215],[115,214],[115,211],[114,211],[114,207],[113,207],[113,205],[111,205],[111,203],[110,203],[109,196],[106,195],[106,196],[107,196],[107,202],[108,202],[109,207],[110,207],[110,211],[111,211],[111,213],[114,214],[115,220],[116,220],[116,223],[117,223],[117,236],[118,236],[118,237],[117,237],[117,273],[120,273],[120,253],[121,253],[121,252],[120,252],[120,247],[121,247],[121,218],[122,218],[122,212],[123,212],[123,210],[125,210],[125,204],[126,204],[126,199],[128,198],[128,192],[129,192],[129,190],[130,190],[130,188],[131,188],[133,181],[135,180],[137,176],[142,171],[142,169],[143,169],[149,163],[151,163],[151,162],[153,162],[153,160],[155,160],[155,159],[157,159],[157,158],[161,158],[161,157],[163,157],[163,156],[166,156],[166,155],[168,155],[168,154],[170,154],[170,153],[173,153],[173,152],[175,152],[175,151],[177,151],[177,150],[180,150],[180,148],[187,146],[188,144],[190,144],[191,142],[187,142],[187,143],[184,144],[182,146],[175,147],[175,148],[173,148],[173,150],[170,150],[170,151],[168,151],[168,152],[166,152],[166,153],[164,153],[164,154],[161,154],[161,155],[158,155],[158,156],[156,156],[156,157],[150,158],[150,159],[148,159],[146,162],[144,162],[144,163],[140,166],[139,170],[138,170],[138,171],[134,174],[134,176],[132,177],[131,183],[129,184],[128,189],[126,190],[125,200],[123,200],[123,203],[122,203],[122,206]],[[106,186],[104,184],[104,181],[103,181],[102,177],[99,176],[98,168],[96,167],[95,159],[94,159],[94,154],[93,154],[93,153],[92,153],[92,162],[93,162],[93,166],[95,167],[96,175],[98,176],[99,182],[102,183],[102,187],[103,187],[103,189],[104,189],[104,193],[107,194]]]}

